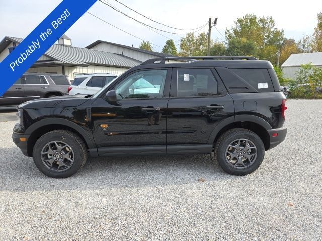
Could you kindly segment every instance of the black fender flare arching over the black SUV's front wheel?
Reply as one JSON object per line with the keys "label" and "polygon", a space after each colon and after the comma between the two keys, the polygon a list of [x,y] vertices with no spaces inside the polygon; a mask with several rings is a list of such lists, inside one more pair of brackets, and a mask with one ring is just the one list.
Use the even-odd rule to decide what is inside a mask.
{"label": "black fender flare arching over the black SUV's front wheel", "polygon": [[69,121],[68,119],[62,119],[62,118],[46,118],[46,119],[41,119],[40,121],[37,121],[30,125],[26,131],[26,135],[31,135],[35,130],[48,126],[48,125],[53,125],[53,124],[59,124],[59,125],[64,125],[67,127],[70,127],[74,130],[76,130],[85,140],[87,146],[89,149],[96,148],[95,142],[93,138],[79,125],[75,124],[72,121]]}

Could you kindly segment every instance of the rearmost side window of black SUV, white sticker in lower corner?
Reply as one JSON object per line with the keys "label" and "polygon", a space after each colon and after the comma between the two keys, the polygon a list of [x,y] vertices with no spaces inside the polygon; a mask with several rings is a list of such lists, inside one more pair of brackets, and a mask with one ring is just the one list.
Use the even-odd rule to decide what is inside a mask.
{"label": "rearmost side window of black SUV, white sticker in lower corner", "polygon": [[267,69],[231,69],[259,92],[274,92],[273,83]]}

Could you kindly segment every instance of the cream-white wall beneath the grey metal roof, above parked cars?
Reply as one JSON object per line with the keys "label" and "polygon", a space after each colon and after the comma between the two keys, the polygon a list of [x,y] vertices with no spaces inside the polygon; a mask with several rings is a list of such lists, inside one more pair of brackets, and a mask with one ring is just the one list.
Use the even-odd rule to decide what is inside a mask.
{"label": "cream-white wall beneath the grey metal roof, above parked cars", "polygon": [[127,71],[126,68],[115,68],[115,67],[106,67],[106,66],[97,66],[97,65],[89,65],[89,66],[79,66],[79,67],[70,67],[65,66],[65,75],[68,75],[70,80],[74,79],[74,76],[79,74],[92,74],[92,73],[111,73],[120,75]]}

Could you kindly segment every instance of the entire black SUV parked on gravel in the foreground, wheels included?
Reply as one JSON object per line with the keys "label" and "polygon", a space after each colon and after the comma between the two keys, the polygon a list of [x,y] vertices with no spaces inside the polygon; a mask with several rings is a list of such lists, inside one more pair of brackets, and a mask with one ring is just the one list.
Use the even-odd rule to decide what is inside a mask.
{"label": "entire black SUV parked on gravel in the foreground, wheels included", "polygon": [[150,59],[92,96],[19,105],[13,140],[54,178],[75,174],[88,156],[211,152],[226,172],[246,175],[284,140],[285,109],[269,61]]}

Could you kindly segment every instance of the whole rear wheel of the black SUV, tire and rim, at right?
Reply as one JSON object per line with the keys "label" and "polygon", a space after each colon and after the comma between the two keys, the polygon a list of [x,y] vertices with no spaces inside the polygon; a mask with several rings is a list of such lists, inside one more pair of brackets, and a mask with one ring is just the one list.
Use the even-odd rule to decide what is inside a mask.
{"label": "whole rear wheel of the black SUV, tire and rim, at right", "polygon": [[216,142],[214,155],[220,167],[232,175],[247,175],[263,162],[265,148],[254,132],[234,128],[223,133]]}

